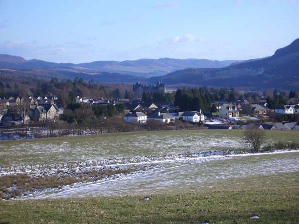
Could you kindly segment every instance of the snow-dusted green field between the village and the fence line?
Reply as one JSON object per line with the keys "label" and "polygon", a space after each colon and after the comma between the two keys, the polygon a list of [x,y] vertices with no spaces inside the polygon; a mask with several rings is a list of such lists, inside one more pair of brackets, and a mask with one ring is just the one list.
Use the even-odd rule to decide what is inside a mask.
{"label": "snow-dusted green field between the village and the fence line", "polygon": [[[267,142],[297,141],[298,131],[266,131]],[[242,130],[112,133],[0,142],[0,166],[68,162],[246,147]]]}

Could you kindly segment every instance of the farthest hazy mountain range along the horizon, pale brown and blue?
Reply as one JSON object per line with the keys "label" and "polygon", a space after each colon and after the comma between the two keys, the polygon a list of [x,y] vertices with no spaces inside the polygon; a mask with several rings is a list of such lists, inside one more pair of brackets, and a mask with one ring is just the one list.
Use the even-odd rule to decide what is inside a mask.
{"label": "farthest hazy mountain range along the horizon, pale brown and blue", "polygon": [[53,63],[37,59],[0,55],[0,68],[8,69],[50,69],[67,70],[85,73],[119,73],[138,77],[166,75],[170,72],[186,68],[222,68],[236,61],[212,61],[207,59],[139,59],[134,61],[95,61],[90,63]]}

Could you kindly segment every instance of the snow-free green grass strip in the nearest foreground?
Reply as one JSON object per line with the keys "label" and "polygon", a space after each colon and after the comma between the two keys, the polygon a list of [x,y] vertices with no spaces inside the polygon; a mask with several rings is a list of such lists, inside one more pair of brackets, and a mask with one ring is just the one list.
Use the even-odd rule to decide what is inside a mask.
{"label": "snow-free green grass strip in the nearest foreground", "polygon": [[[0,223],[299,223],[299,172],[175,195],[0,202]],[[190,207],[185,207],[188,204]],[[249,219],[258,215],[258,221]]]}

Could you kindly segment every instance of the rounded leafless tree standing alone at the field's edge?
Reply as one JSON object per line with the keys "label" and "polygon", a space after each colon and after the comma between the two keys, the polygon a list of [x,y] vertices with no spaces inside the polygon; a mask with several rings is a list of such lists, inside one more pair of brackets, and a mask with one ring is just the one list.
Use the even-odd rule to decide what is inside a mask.
{"label": "rounded leafless tree standing alone at the field's edge", "polygon": [[254,152],[259,152],[265,140],[265,131],[251,126],[244,131],[244,139],[250,144]]}

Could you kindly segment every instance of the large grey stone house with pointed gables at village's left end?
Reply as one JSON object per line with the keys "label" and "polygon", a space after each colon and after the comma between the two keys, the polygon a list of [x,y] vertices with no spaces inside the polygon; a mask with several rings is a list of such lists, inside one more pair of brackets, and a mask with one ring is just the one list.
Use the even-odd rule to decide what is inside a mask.
{"label": "large grey stone house with pointed gables at village's left end", "polygon": [[46,121],[59,118],[59,109],[56,104],[36,104],[30,107],[32,120]]}

